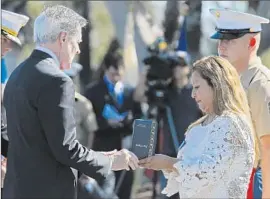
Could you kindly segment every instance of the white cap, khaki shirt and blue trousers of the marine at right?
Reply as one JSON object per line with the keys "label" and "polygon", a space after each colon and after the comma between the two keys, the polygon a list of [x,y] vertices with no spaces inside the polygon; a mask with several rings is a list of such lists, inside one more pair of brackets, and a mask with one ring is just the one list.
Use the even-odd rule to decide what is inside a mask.
{"label": "white cap, khaki shirt and blue trousers of the marine at right", "polygon": [[[266,18],[228,9],[211,9],[210,12],[216,19],[217,24],[216,33],[212,35],[212,39],[233,40],[239,39],[246,34],[260,34],[262,30],[261,24],[269,23],[269,20]],[[256,134],[258,138],[269,137],[270,70],[262,64],[258,56],[251,56],[248,60],[248,67],[240,74],[240,78],[242,86],[247,93]],[[260,143],[259,145],[261,146]],[[269,173],[270,170],[266,172]],[[270,179],[266,179],[266,181],[269,183]],[[269,189],[269,187],[264,187],[264,189]],[[252,173],[248,198],[262,198],[260,163]]]}

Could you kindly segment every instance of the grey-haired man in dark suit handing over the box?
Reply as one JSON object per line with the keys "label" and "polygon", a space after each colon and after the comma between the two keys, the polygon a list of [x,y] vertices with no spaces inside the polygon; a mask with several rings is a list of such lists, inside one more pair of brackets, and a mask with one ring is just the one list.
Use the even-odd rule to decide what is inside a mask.
{"label": "grey-haired man in dark suit handing over the box", "polygon": [[75,198],[70,167],[106,177],[138,166],[128,150],[95,152],[76,140],[74,85],[61,70],[80,53],[86,20],[64,6],[35,20],[32,54],[11,74],[4,93],[9,150],[3,198]]}

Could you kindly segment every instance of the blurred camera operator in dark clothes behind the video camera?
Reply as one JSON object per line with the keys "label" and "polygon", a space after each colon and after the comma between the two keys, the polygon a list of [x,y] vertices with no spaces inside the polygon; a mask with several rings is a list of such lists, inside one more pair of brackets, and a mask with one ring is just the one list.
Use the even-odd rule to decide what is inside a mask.
{"label": "blurred camera operator in dark clothes behind the video camera", "polygon": [[[171,109],[171,116],[173,118],[173,124],[177,133],[178,142],[181,144],[185,139],[185,132],[188,126],[202,116],[202,112],[198,108],[195,100],[191,97],[192,86],[189,81],[190,66],[187,61],[179,56],[179,65],[173,69],[173,80],[168,87],[167,102],[166,105]],[[144,77],[146,88],[146,77]],[[145,93],[141,92],[140,99],[146,99]],[[151,104],[151,101],[147,101]],[[159,133],[158,151],[159,153],[175,157],[177,155],[177,149],[174,147],[171,128],[168,122],[168,117],[163,113],[163,129]],[[160,173],[161,188],[166,185],[166,179],[162,173]],[[167,198],[166,196],[162,196]],[[177,194],[170,198],[179,198]]]}

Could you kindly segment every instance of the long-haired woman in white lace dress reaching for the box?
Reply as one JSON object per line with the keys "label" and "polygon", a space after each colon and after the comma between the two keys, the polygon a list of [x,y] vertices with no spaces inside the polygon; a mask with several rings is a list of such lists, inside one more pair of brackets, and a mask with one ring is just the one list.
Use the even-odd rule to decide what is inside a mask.
{"label": "long-haired woman in white lace dress reaching for the box", "polygon": [[157,154],[140,166],[163,171],[167,196],[246,198],[256,139],[238,74],[225,59],[210,56],[194,63],[191,80],[205,115],[188,128],[177,158]]}

